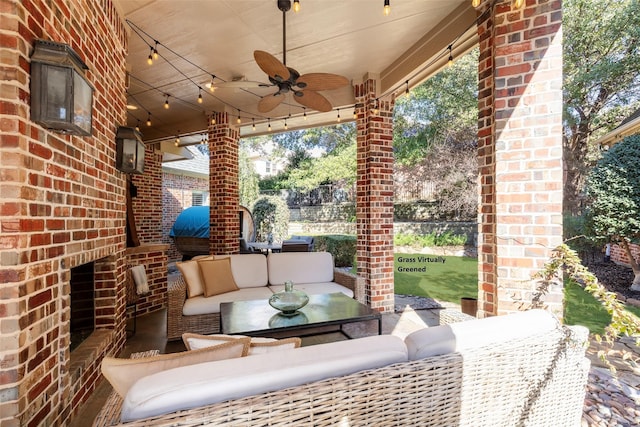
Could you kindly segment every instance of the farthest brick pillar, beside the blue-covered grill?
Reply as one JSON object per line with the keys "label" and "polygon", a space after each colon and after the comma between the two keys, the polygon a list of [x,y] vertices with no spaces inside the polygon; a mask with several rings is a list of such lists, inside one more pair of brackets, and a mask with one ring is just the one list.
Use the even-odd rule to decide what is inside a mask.
{"label": "farthest brick pillar, beside the blue-covered grill", "polygon": [[227,113],[215,113],[214,118],[215,124],[209,124],[209,245],[212,254],[231,254],[240,249],[240,132],[230,125]]}

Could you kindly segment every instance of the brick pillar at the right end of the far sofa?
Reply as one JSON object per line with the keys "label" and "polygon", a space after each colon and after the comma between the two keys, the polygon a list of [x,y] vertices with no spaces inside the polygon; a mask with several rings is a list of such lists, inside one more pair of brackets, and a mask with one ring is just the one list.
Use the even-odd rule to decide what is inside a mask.
{"label": "brick pillar at the right end of the far sofa", "polygon": [[376,82],[357,85],[356,226],[358,274],[367,305],[393,312],[393,101],[380,101]]}

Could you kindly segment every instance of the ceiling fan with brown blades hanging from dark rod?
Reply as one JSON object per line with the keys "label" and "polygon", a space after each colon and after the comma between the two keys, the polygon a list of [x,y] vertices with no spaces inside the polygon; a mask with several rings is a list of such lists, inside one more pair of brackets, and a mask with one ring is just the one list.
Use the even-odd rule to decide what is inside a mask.
{"label": "ceiling fan with brown blades hanging from dark rod", "polygon": [[262,71],[269,77],[272,86],[278,91],[264,96],[258,102],[258,111],[268,113],[285,99],[289,92],[293,99],[313,110],[327,112],[333,108],[329,100],[318,91],[339,89],[349,84],[346,77],[330,73],[309,73],[300,75],[298,71],[287,67],[286,13],[291,9],[291,0],[277,0],[278,9],[282,11],[282,62],[275,56],[262,50],[253,52],[253,57]]}

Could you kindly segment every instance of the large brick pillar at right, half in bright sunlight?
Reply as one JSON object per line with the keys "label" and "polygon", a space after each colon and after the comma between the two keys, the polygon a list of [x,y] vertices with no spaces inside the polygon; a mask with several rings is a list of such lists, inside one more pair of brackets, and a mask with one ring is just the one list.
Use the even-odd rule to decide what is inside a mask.
{"label": "large brick pillar at right, half in bright sunlight", "polygon": [[[562,4],[492,6],[478,23],[478,315],[530,306],[562,243]],[[544,303],[562,316],[561,284]]]}

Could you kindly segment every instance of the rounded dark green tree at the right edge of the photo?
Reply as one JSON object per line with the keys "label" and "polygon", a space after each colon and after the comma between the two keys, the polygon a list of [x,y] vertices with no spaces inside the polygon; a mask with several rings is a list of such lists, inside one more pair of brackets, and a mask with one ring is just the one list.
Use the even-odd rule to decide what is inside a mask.
{"label": "rounded dark green tree at the right edge of the photo", "polygon": [[629,243],[640,237],[640,135],[625,138],[605,152],[587,177],[592,199],[587,217],[596,238],[610,239],[627,253],[640,291],[640,267]]}

